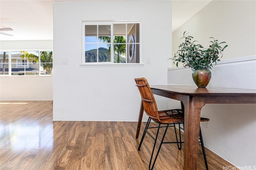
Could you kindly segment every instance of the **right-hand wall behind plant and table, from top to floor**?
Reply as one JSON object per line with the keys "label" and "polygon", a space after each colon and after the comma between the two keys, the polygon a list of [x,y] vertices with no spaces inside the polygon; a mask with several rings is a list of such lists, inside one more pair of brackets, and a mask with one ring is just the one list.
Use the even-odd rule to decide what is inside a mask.
{"label": "right-hand wall behind plant and table, from top to floor", "polygon": [[[212,1],[173,32],[173,55],[183,32],[207,47],[208,37],[226,41],[223,58],[208,86],[256,89],[256,1]],[[180,64],[181,65],[181,64]],[[174,66],[173,66],[174,67]],[[193,84],[190,68],[169,68],[168,84]],[[169,101],[169,107],[179,102]],[[204,144],[235,166],[256,166],[256,105],[206,104],[201,125]]]}

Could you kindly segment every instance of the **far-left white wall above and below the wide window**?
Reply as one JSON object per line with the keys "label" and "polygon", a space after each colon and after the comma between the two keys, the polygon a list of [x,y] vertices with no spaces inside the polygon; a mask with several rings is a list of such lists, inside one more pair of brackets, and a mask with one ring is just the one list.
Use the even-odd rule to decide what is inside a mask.
{"label": "far-left white wall above and below the wide window", "polygon": [[[52,50],[52,40],[0,41],[1,51]],[[0,100],[52,100],[52,76],[0,76]]]}

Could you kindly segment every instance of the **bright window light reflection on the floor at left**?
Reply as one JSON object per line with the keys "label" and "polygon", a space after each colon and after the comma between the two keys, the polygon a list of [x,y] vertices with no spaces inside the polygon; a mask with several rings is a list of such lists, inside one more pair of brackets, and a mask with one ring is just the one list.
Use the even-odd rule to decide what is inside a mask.
{"label": "bright window light reflection on the floor at left", "polygon": [[[1,103],[2,104],[2,103]],[[1,129],[1,149],[42,149],[53,147],[53,126],[40,124],[38,121],[14,121],[2,123]]]}

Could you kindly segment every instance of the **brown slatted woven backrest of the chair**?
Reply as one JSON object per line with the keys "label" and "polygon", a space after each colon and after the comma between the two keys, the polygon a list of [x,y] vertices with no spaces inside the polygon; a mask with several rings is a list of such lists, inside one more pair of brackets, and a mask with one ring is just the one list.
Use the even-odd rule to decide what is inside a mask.
{"label": "brown slatted woven backrest of the chair", "polygon": [[156,101],[148,84],[148,81],[144,77],[135,78],[134,80],[136,82],[136,86],[140,91],[144,111],[151,119],[158,121],[159,116]]}

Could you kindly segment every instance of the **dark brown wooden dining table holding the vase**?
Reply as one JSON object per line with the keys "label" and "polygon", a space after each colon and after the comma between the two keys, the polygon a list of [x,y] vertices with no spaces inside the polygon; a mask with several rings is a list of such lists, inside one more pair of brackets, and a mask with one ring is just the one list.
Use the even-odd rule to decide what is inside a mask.
{"label": "dark brown wooden dining table holding the vase", "polygon": [[[205,104],[256,104],[256,90],[190,85],[154,85],[152,93],[179,100],[184,106],[184,170],[196,170],[201,110]],[[140,106],[136,139],[143,117]]]}

